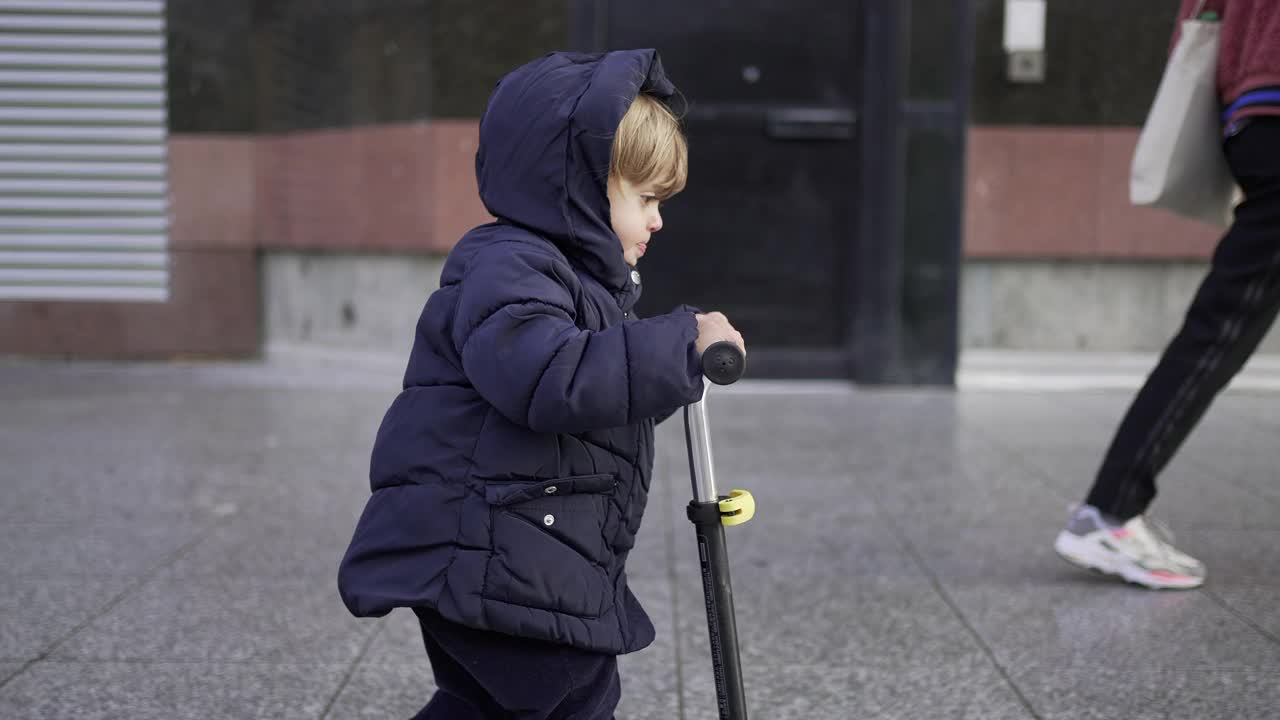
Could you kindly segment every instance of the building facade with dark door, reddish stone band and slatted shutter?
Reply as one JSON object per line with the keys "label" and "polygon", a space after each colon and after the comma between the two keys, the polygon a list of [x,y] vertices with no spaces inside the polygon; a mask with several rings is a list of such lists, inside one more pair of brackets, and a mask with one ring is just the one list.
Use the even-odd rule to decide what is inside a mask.
{"label": "building facade with dark door, reddish stone band and slatted shutter", "polygon": [[1158,347],[1216,240],[1126,200],[1176,5],[1053,0],[1015,82],[1005,0],[6,3],[0,352],[407,351],[489,219],[493,83],[628,46],[662,51],[691,140],[645,310],[726,310],[776,377]]}

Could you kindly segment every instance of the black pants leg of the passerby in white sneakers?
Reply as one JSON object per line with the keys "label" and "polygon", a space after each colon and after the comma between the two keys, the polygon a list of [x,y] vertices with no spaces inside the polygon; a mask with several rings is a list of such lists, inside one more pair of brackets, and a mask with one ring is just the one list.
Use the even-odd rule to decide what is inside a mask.
{"label": "black pants leg of the passerby in white sneakers", "polygon": [[1226,142],[1245,200],[1213,251],[1178,336],[1138,392],[1088,503],[1126,520],[1156,497],[1169,464],[1213,397],[1262,342],[1280,309],[1280,118],[1258,118]]}

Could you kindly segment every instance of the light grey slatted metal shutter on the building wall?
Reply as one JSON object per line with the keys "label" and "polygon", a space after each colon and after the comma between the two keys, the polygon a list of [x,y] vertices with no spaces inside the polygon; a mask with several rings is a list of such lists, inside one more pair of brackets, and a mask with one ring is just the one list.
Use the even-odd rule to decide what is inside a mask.
{"label": "light grey slatted metal shutter on the building wall", "polygon": [[164,12],[0,0],[0,300],[168,300]]}

